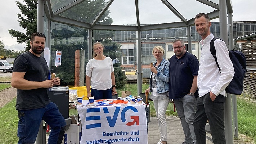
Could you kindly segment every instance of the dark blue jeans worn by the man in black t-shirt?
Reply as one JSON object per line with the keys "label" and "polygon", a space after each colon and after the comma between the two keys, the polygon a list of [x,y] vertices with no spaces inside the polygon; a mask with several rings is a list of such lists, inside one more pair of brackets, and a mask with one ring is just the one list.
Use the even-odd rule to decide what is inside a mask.
{"label": "dark blue jeans worn by the man in black t-shirt", "polygon": [[18,144],[34,144],[42,120],[51,127],[48,144],[57,144],[60,130],[66,126],[64,117],[53,102],[43,108],[18,110],[18,116]]}

